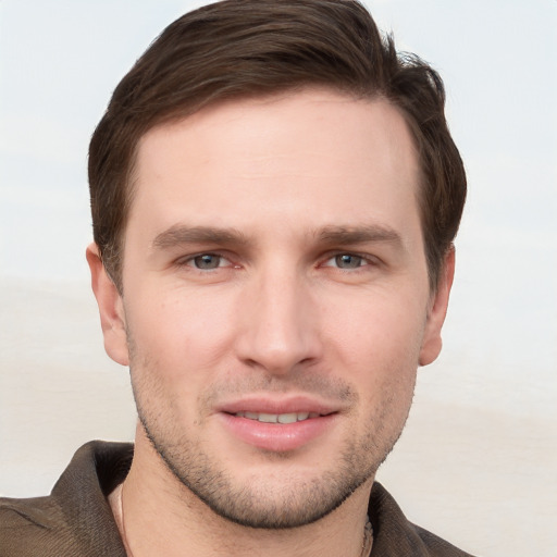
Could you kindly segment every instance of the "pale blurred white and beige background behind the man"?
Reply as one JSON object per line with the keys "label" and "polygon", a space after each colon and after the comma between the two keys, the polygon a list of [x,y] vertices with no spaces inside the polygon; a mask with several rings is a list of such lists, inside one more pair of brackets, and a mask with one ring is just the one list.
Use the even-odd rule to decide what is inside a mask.
{"label": "pale blurred white and beige background behind the man", "polygon": [[[206,2],[0,0],[0,495],[131,440],[89,292],[90,134],[116,83]],[[379,479],[485,556],[557,556],[557,1],[368,1],[447,87],[469,176],[445,348]]]}

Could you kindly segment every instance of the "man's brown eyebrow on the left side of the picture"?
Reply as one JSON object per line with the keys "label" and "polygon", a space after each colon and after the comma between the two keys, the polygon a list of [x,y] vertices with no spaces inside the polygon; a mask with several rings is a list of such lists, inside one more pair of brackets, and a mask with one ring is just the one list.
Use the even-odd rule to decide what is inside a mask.
{"label": "man's brown eyebrow on the left side of the picture", "polygon": [[156,248],[169,249],[182,244],[220,244],[247,245],[248,239],[235,228],[218,228],[213,226],[174,225],[161,232],[153,239]]}

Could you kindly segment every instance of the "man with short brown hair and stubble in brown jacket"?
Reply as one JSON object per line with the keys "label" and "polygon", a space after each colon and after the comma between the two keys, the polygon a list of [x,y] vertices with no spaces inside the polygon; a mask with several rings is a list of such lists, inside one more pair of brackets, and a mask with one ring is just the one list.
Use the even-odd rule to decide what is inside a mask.
{"label": "man with short brown hair and stubble in brown jacket", "polygon": [[135,445],[3,499],[2,556],[462,556],[375,472],[441,350],[466,177],[437,74],[352,1],[169,26],[89,150]]}

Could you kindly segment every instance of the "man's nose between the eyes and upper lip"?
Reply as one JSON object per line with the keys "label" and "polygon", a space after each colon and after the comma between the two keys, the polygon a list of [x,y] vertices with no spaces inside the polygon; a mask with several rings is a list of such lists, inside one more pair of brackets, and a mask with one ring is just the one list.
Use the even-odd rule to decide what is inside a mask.
{"label": "man's nose between the eyes and upper lip", "polygon": [[319,311],[310,285],[292,272],[268,272],[243,296],[238,358],[269,374],[287,375],[321,358]]}

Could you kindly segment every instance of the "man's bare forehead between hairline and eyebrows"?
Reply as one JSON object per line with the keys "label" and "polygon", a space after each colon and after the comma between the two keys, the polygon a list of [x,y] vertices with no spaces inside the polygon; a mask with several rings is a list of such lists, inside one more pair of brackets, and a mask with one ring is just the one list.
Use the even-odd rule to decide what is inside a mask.
{"label": "man's bare forehead between hairline and eyebrows", "polygon": [[154,127],[134,174],[129,223],[144,209],[160,226],[268,215],[298,227],[385,218],[403,199],[418,210],[417,153],[397,109],[322,89],[228,101]]}

